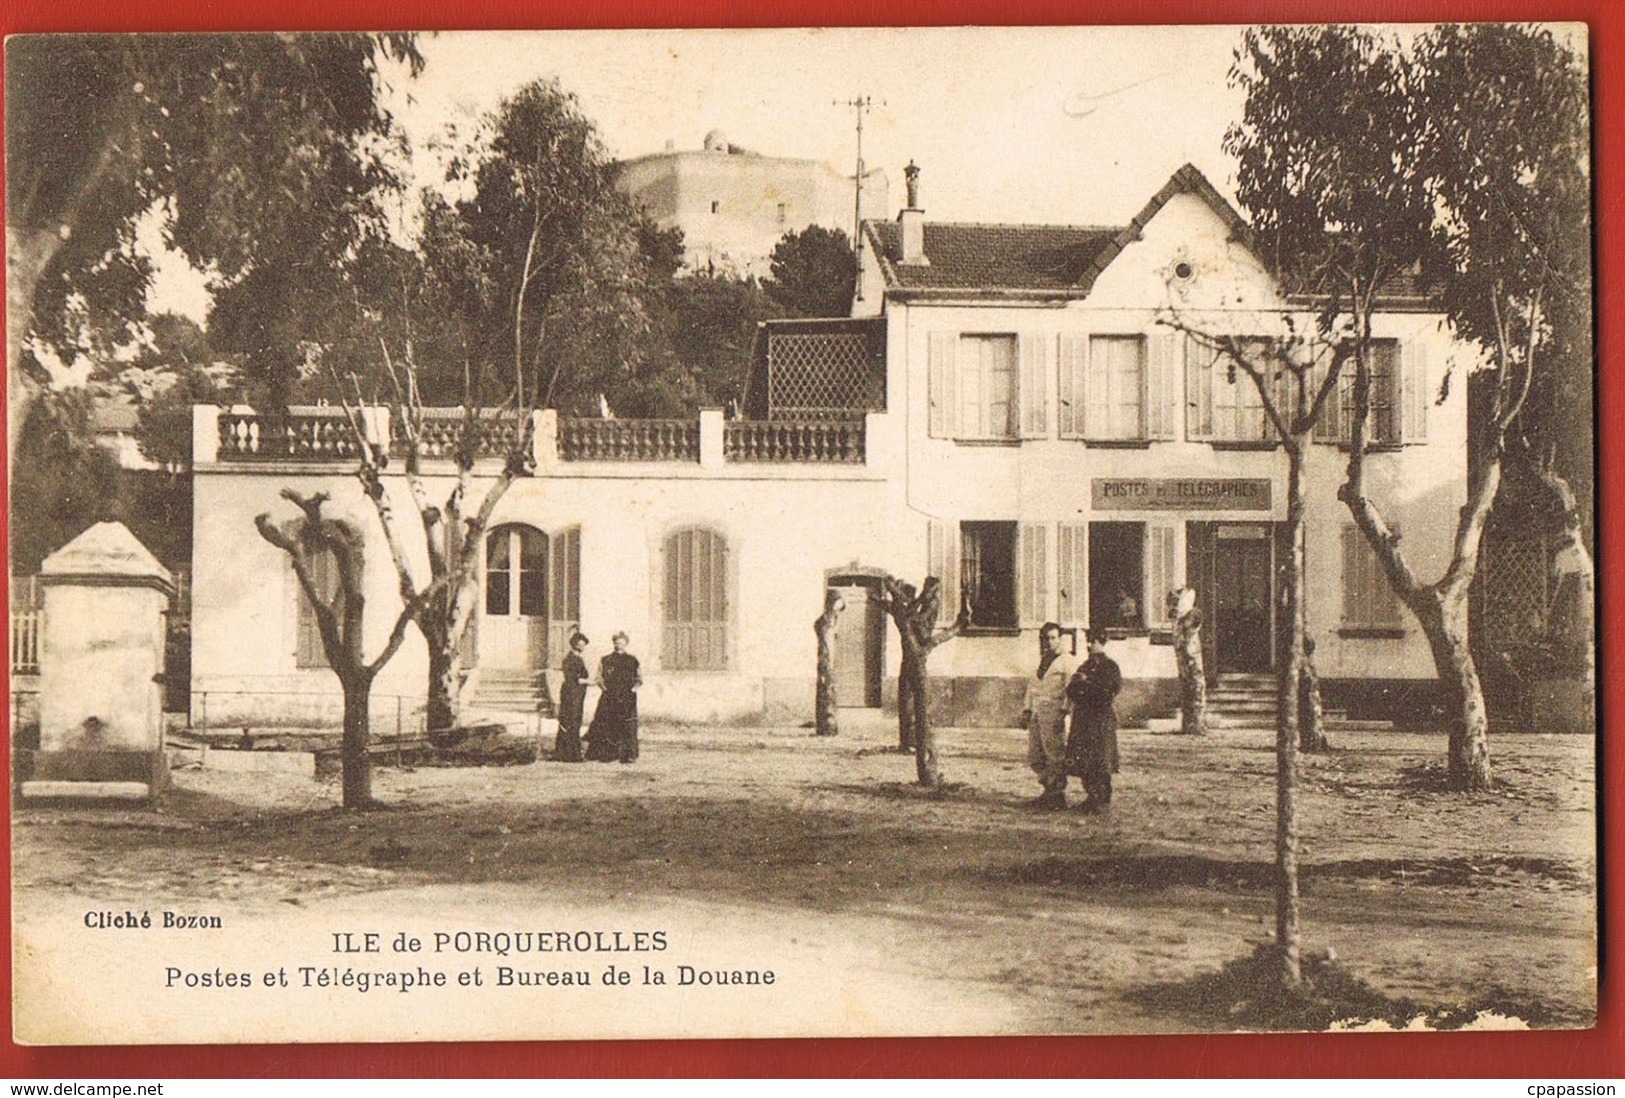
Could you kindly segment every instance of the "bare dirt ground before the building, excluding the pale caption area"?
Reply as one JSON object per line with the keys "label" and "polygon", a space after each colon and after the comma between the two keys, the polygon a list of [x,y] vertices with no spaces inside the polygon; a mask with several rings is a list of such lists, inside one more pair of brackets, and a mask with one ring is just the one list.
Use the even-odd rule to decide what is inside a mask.
{"label": "bare dirt ground before the building, excluding the pale caption area", "polygon": [[[546,897],[752,926],[830,973],[886,966],[918,1012],[887,1031],[1246,1028],[1201,988],[1272,932],[1271,733],[1128,729],[1095,817],[1027,807],[1017,731],[944,731],[930,796],[894,729],[855,718],[832,739],[645,728],[629,767],[380,768],[388,809],[369,814],[336,811],[336,780],[195,768],[158,814],[24,806],[15,918]],[[1425,1009],[1591,1025],[1594,742],[1498,736],[1497,789],[1469,796],[1443,791],[1440,736],[1334,744],[1302,768],[1305,950]]]}

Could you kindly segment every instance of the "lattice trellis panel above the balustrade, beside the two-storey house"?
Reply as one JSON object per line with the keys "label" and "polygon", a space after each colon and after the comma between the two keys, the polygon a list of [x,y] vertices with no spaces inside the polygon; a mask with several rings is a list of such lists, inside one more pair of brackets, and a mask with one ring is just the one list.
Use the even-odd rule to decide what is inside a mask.
{"label": "lattice trellis panel above the balustrade, beside the two-storey house", "polygon": [[767,406],[774,419],[852,416],[884,408],[864,335],[821,331],[767,338]]}

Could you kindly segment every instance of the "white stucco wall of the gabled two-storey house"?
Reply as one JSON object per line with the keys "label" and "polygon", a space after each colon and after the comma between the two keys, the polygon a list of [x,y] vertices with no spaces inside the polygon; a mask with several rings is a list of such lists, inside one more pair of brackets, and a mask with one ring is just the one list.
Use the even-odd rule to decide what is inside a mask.
{"label": "white stucco wall of the gabled two-storey house", "polygon": [[[1193,266],[1191,278],[1175,279],[1176,263]],[[1168,322],[1232,333],[1274,333],[1280,302],[1256,258],[1230,237],[1224,221],[1193,195],[1176,195],[1095,281],[1087,297],[1068,302],[889,300],[889,408],[905,440],[902,479],[912,517],[913,555],[923,565],[931,520],[1003,520],[1048,523],[1048,612],[1056,616],[1053,523],[1058,521],[1172,521],[1176,525],[1175,575],[1185,581],[1186,521],[1285,521],[1287,461],[1280,452],[1216,450],[1186,439],[1186,416],[1175,416],[1172,442],[1144,448],[1094,447],[1061,439],[1058,344],[1068,335],[1144,335],[1168,338]],[[1272,312],[1276,310],[1276,312]],[[928,348],[934,333],[947,336],[1016,335],[1043,348],[1042,377],[1048,409],[1046,435],[1008,443],[956,442],[928,437]],[[1367,484],[1391,523],[1404,531],[1404,552],[1415,572],[1433,578],[1448,560],[1456,513],[1466,499],[1467,413],[1466,383],[1451,387],[1440,404],[1445,372],[1466,367],[1471,352],[1454,344],[1438,313],[1394,312],[1375,322],[1373,336],[1399,339],[1420,349],[1427,367],[1427,442],[1367,458]],[[1176,354],[1183,378],[1183,352]],[[1246,383],[1243,380],[1243,383]],[[1183,382],[1178,387],[1183,396]],[[1352,520],[1336,499],[1347,453],[1329,443],[1311,448],[1308,495],[1308,607],[1318,638],[1318,666],[1326,677],[1428,679],[1432,658],[1415,620],[1406,612],[1402,638],[1344,637],[1342,528]],[[1092,512],[1095,478],[1268,478],[1266,512],[1178,510]],[[1147,593],[1147,599],[1150,593]],[[1084,622],[1077,622],[1084,624]],[[1037,651],[1035,630],[1020,638],[956,642],[936,658],[934,671],[952,676],[1025,672]],[[1128,677],[1173,677],[1172,650],[1149,638],[1113,642],[1112,655]]]}

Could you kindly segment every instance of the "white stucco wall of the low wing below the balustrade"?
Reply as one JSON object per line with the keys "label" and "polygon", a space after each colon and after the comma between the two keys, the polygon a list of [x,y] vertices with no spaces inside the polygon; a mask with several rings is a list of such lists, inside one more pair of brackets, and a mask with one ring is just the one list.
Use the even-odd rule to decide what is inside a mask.
{"label": "white stucco wall of the low wing below the balustrade", "polygon": [[[873,417],[884,422],[884,416]],[[881,434],[881,432],[876,432]],[[476,495],[489,484],[476,481]],[[405,479],[387,478],[406,543],[422,567],[418,518]],[[431,499],[452,481],[429,478]],[[208,707],[213,724],[249,720],[317,723],[336,711],[336,677],[296,666],[297,580],[286,555],[254,530],[268,512],[292,518],[283,487],[332,495],[327,513],[362,531],[367,565],[367,651],[375,651],[400,607],[395,570],[372,504],[346,466],[284,473],[266,465],[216,463],[197,469],[193,552],[193,718]],[[811,622],[822,609],[824,578],[848,565],[899,568],[886,536],[887,481],[868,466],[751,466],[660,463],[554,463],[517,481],[492,528],[525,523],[546,534],[580,528],[582,619],[596,659],[626,630],[644,664],[645,715],[674,720],[760,716],[764,702],[806,684],[811,703]],[[666,671],[660,666],[661,547],[682,526],[707,526],[728,547],[728,668]],[[557,664],[562,653],[551,653]],[[416,629],[380,672],[374,720],[393,723],[395,698],[408,723],[421,707],[427,653]],[[775,694],[777,690],[777,694]],[[208,694],[208,698],[198,695]],[[242,711],[244,716],[234,718]]]}

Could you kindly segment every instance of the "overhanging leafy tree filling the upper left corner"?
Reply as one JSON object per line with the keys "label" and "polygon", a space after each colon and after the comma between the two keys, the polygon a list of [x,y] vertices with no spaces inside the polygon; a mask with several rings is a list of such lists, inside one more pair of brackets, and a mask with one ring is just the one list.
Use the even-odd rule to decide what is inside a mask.
{"label": "overhanging leafy tree filling the upper left corner", "polygon": [[[65,357],[127,339],[150,263],[136,223],[223,286],[336,255],[370,214],[385,58],[410,34],[18,36],[6,42],[6,369],[13,424]],[[15,427],[8,435],[15,452]]]}

